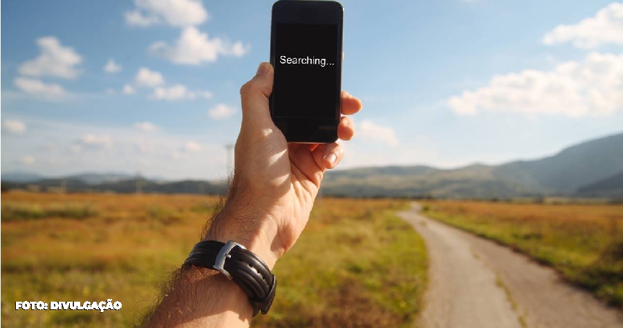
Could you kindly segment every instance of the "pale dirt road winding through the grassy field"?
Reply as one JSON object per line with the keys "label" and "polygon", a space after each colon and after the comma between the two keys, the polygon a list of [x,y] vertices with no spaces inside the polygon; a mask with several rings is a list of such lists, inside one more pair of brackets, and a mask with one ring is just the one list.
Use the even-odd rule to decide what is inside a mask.
{"label": "pale dirt road winding through the grassy field", "polygon": [[423,328],[623,327],[620,313],[551,268],[420,215],[418,205],[399,215],[429,253]]}

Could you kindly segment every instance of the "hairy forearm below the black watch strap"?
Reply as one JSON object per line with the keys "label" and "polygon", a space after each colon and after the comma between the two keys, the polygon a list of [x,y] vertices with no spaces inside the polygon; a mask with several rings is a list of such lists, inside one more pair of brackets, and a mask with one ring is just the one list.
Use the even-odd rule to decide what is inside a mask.
{"label": "hairy forearm below the black watch strap", "polygon": [[249,327],[253,309],[244,291],[207,268],[176,273],[145,328]]}

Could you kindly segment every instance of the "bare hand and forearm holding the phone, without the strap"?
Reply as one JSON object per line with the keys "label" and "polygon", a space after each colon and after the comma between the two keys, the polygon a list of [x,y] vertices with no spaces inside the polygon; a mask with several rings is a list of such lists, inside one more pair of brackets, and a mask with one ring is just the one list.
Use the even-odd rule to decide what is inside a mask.
{"label": "bare hand and forearm holding the phone, without the strap", "polygon": [[[225,207],[203,235],[205,240],[241,244],[269,270],[305,228],[324,171],[335,167],[344,155],[337,143],[287,143],[270,117],[273,74],[270,64],[260,64],[254,78],[241,88],[243,118],[234,148],[236,173]],[[342,113],[350,115],[360,109],[360,100],[342,93]],[[338,136],[349,140],[353,133],[352,122],[342,117]],[[145,327],[249,326],[253,307],[248,295],[222,273],[183,268],[171,281]],[[263,298],[267,302],[262,304],[263,313],[270,308],[275,286],[268,287],[270,298]],[[254,306],[258,307],[255,300]]]}

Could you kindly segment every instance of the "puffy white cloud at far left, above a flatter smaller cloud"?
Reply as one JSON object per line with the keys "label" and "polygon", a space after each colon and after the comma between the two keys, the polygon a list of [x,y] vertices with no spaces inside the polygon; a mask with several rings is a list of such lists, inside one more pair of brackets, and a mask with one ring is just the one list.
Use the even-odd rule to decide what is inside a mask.
{"label": "puffy white cloud at far left, above a flatter smaller cloud", "polygon": [[41,54],[21,64],[17,69],[20,74],[66,79],[75,79],[80,74],[76,66],[82,62],[82,57],[73,48],[61,46],[56,37],[41,37],[37,39],[37,45]]}

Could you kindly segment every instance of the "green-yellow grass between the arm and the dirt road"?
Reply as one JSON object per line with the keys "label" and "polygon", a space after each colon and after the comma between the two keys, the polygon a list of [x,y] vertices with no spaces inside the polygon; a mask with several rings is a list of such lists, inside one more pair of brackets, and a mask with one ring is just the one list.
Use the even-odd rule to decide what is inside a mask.
{"label": "green-yellow grass between the arm and the dirt road", "polygon": [[[389,208],[387,208],[389,206]],[[422,309],[422,239],[388,201],[324,201],[275,267],[270,316],[254,327],[413,327]]]}

